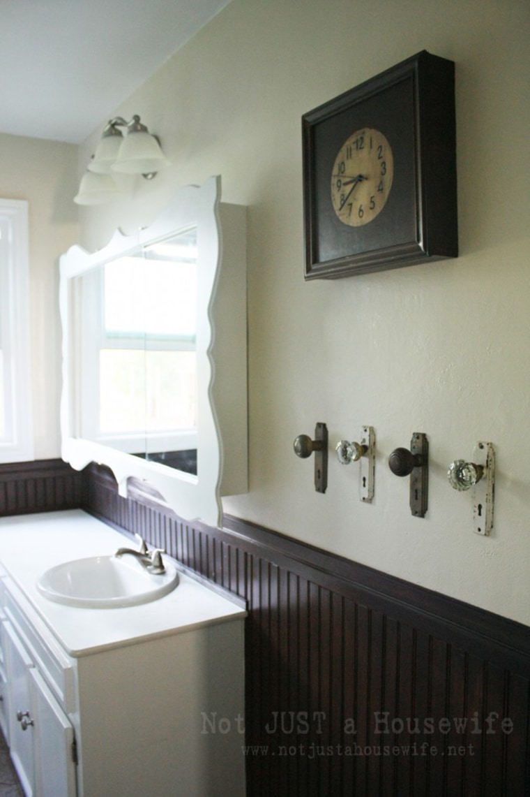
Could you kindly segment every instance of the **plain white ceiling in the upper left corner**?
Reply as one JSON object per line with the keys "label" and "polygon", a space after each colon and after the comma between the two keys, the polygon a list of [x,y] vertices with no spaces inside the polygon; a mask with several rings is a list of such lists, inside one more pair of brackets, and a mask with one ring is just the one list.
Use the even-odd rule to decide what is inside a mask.
{"label": "plain white ceiling in the upper left corner", "polygon": [[0,132],[80,143],[230,0],[0,0]]}

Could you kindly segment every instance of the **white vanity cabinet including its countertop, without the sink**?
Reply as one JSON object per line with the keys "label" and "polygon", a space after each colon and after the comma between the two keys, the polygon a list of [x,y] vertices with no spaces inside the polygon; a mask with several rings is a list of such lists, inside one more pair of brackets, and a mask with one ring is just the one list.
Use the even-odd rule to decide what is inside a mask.
{"label": "white vanity cabinet including its countertop, without the sink", "polygon": [[72,521],[84,553],[123,544],[82,516],[28,520],[25,558],[25,521],[0,519],[0,710],[26,795],[244,797],[244,607],[185,572],[143,606],[45,599],[37,574],[76,559]]}

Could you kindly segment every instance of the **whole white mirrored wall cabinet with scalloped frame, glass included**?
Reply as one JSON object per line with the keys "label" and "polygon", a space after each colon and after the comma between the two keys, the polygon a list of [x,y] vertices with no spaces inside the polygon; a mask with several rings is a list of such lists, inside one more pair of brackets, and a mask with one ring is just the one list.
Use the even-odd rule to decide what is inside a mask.
{"label": "whole white mirrored wall cabinet with scalloped frame, glass included", "polygon": [[220,178],[137,234],[60,258],[62,456],[148,481],[177,515],[222,522],[247,489],[245,213]]}

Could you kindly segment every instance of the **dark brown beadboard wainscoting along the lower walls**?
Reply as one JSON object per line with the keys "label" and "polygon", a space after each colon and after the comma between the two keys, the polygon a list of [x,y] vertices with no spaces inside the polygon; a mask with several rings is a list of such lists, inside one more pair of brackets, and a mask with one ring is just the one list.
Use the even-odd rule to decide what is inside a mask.
{"label": "dark brown beadboard wainscoting along the lower walls", "polygon": [[[2,492],[8,467],[0,514],[18,512]],[[247,600],[249,797],[530,795],[527,626],[244,520],[187,524],[138,482],[119,497],[95,465],[68,489],[68,466],[49,469],[67,480],[64,508],[78,496]],[[8,492],[23,512],[61,508],[51,488],[34,507],[21,483]]]}

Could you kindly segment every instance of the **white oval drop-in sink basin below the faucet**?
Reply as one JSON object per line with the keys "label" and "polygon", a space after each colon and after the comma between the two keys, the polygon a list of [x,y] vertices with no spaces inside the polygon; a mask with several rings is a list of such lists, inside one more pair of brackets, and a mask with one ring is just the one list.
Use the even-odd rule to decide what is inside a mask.
{"label": "white oval drop-in sink basin below the faucet", "polygon": [[45,598],[67,606],[112,609],[138,606],[162,598],[178,584],[178,573],[154,575],[131,556],[91,556],[50,567],[37,581]]}

